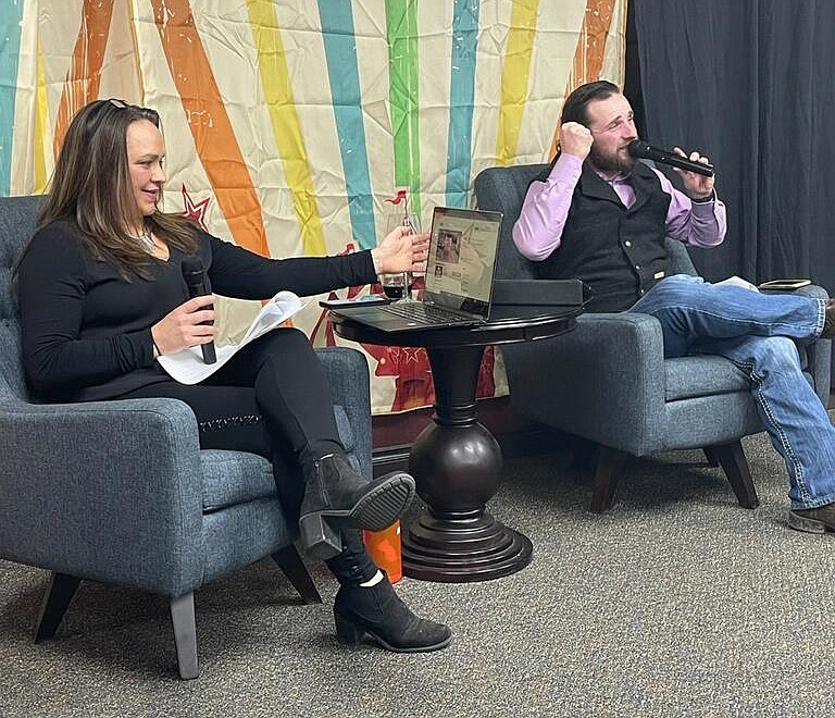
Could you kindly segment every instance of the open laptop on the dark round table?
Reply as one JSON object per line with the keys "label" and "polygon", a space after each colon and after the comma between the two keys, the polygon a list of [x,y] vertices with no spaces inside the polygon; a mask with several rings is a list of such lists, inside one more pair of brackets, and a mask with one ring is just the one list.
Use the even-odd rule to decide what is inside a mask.
{"label": "open laptop on the dark round table", "polygon": [[500,228],[499,212],[436,207],[421,299],[331,311],[384,332],[484,324],[490,312]]}

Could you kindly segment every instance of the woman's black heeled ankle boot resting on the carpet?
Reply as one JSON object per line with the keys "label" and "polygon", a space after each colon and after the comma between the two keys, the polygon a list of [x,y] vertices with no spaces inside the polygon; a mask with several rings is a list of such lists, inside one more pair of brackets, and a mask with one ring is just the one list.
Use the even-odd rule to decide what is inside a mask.
{"label": "woman's black heeled ankle boot resting on the carpet", "polygon": [[334,601],[336,635],[357,645],[366,633],[386,651],[419,653],[449,645],[452,631],[418,618],[395,593],[388,577],[373,586],[340,586]]}

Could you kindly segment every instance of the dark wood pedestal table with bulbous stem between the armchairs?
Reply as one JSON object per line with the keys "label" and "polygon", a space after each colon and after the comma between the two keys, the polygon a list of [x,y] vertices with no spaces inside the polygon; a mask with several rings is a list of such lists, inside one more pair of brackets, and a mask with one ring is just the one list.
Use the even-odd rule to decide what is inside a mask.
{"label": "dark wood pedestal table with bulbous stem between the armchairs", "polygon": [[[501,449],[476,421],[476,382],[489,344],[547,339],[574,327],[575,307],[494,307],[475,327],[383,332],[331,315],[353,342],[425,347],[435,383],[435,414],[409,455],[426,509],[403,536],[403,573],[426,581],[486,581],[531,562],[531,541],[493,518],[486,504],[501,479]],[[544,368],[546,369],[551,368]]]}

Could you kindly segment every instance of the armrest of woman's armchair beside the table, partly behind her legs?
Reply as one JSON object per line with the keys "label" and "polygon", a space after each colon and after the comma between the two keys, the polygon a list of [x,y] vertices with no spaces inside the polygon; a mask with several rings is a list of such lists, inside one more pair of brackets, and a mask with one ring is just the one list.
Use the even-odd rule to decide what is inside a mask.
{"label": "armrest of woman's armchair beside the table, partly behind her legs", "polygon": [[316,355],[322,360],[331,382],[334,404],[338,404],[348,414],[356,441],[356,454],[360,461],[360,472],[372,478],[371,466],[371,392],[369,362],[361,351],[350,347],[317,348]]}

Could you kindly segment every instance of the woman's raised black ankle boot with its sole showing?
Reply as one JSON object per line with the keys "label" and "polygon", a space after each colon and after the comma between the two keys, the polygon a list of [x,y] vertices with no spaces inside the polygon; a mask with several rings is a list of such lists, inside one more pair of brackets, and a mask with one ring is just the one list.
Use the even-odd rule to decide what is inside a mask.
{"label": "woman's raised black ankle boot with its sole showing", "polygon": [[342,549],[339,527],[382,531],[409,507],[414,479],[403,471],[365,481],[341,454],[328,454],[313,463],[307,476],[299,512],[306,548],[326,560]]}

